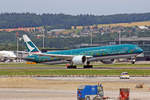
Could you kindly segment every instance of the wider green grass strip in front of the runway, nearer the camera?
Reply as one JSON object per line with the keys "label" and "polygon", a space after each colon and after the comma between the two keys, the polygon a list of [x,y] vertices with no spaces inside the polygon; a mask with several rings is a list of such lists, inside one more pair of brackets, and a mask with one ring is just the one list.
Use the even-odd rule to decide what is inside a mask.
{"label": "wider green grass strip in front of the runway, nearer the camera", "polygon": [[55,75],[120,75],[121,72],[127,71],[130,75],[150,75],[150,70],[94,70],[94,69],[2,69],[0,75],[8,76],[55,76]]}

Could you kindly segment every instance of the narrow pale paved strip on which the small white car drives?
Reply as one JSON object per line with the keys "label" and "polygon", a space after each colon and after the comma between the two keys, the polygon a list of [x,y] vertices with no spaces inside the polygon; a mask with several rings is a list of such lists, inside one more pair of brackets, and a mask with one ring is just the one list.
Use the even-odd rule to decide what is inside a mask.
{"label": "narrow pale paved strip on which the small white car drives", "polygon": [[130,79],[120,79],[120,77],[34,77],[37,80],[59,80],[59,81],[87,81],[87,82],[127,82],[127,83],[148,83],[150,77],[130,77]]}

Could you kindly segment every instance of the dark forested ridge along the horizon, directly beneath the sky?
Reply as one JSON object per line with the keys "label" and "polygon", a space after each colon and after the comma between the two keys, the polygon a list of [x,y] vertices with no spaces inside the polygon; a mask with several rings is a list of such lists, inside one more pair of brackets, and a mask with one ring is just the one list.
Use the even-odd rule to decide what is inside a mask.
{"label": "dark forested ridge along the horizon, directly beneath the sky", "polygon": [[0,28],[52,26],[53,28],[71,28],[71,26],[130,23],[150,21],[150,13],[116,14],[107,16],[35,14],[35,13],[1,13]]}

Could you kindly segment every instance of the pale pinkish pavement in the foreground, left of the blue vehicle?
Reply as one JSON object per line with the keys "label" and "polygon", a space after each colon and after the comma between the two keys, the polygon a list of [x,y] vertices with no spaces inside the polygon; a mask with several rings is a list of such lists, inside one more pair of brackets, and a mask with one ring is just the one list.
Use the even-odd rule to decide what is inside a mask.
{"label": "pale pinkish pavement in the foreground, left of the blue vehicle", "polygon": [[76,91],[0,88],[0,100],[76,100]]}

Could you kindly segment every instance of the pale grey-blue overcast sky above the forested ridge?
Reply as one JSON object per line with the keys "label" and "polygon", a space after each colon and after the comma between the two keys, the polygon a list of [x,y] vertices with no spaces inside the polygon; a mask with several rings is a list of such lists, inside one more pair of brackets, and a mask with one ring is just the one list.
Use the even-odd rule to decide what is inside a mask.
{"label": "pale grey-blue overcast sky above the forested ridge", "polygon": [[111,15],[150,12],[150,0],[0,0],[0,13]]}

